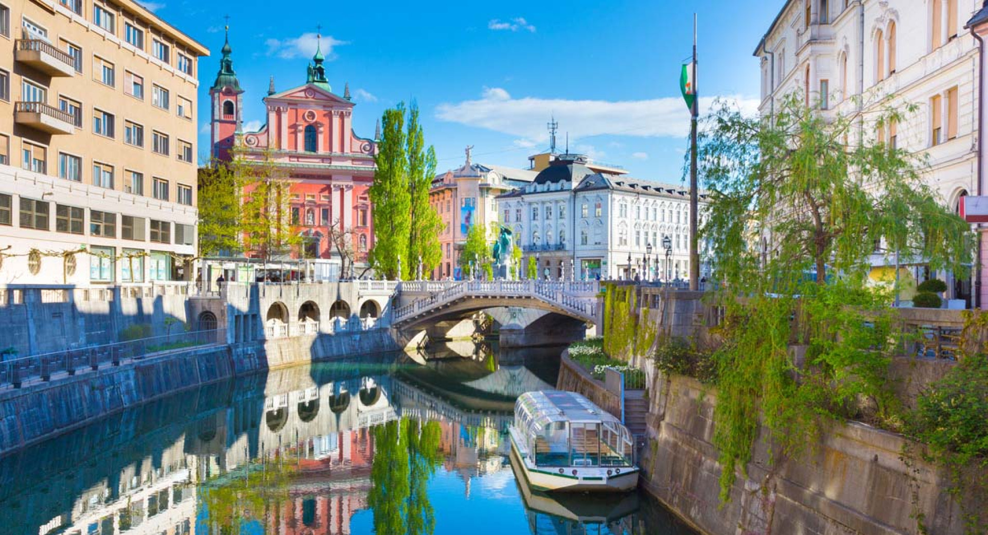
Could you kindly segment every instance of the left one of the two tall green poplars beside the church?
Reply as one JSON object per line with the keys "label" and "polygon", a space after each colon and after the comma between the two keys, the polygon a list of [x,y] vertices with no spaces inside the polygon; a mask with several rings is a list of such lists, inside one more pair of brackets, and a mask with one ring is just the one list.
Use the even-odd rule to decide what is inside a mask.
{"label": "left one of the two tall green poplars beside the church", "polygon": [[404,278],[398,272],[399,259],[402,271],[408,272],[412,265],[408,255],[412,218],[404,123],[404,103],[384,111],[370,191],[375,234],[371,264],[389,279]]}

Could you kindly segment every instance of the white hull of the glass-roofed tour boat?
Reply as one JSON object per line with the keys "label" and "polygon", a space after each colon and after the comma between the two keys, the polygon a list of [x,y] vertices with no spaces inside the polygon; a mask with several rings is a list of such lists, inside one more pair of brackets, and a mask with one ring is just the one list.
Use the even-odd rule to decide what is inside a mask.
{"label": "white hull of the glass-roofed tour boat", "polygon": [[[511,463],[516,467],[516,472],[525,477],[525,484],[531,489],[541,492],[555,493],[622,493],[635,489],[638,486],[638,469],[621,468],[620,474],[607,475],[607,468],[586,468],[586,467],[566,467],[562,468],[538,468],[530,466],[520,451],[515,436],[516,430],[512,427],[511,432]],[[574,476],[572,471],[577,471]],[[552,472],[551,470],[554,470]],[[614,469],[612,469],[614,470]]]}

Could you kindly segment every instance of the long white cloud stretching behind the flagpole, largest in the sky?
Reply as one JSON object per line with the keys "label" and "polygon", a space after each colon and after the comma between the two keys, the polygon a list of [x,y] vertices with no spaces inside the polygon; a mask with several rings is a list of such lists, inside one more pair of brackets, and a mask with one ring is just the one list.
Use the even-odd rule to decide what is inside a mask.
{"label": "long white cloud stretching behind the flagpole, largest in the sky", "polygon": [[[716,99],[701,98],[700,113],[707,112]],[[757,99],[733,96],[726,100],[745,114],[757,113]],[[487,128],[538,144],[548,139],[545,120],[552,115],[571,141],[597,135],[680,138],[690,129],[690,111],[678,96],[644,101],[577,101],[514,98],[502,88],[484,88],[480,99],[441,104],[436,115],[441,120]],[[557,139],[563,136],[558,135]]]}

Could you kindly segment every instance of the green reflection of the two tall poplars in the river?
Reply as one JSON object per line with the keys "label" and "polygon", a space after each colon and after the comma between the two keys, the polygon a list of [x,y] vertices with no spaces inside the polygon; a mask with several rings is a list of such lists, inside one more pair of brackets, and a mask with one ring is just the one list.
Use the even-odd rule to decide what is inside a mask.
{"label": "green reflection of the two tall poplars in the river", "polygon": [[392,420],[373,429],[371,493],[377,535],[431,535],[436,527],[426,485],[442,461],[437,421]]}

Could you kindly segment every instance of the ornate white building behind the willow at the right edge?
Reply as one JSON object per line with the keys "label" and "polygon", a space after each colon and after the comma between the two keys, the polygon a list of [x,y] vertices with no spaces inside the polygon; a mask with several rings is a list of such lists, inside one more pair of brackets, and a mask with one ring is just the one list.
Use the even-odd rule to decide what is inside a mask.
{"label": "ornate white building behind the willow at the right edge", "polygon": [[[782,96],[801,91],[822,114],[858,115],[866,140],[928,155],[928,183],[956,208],[961,196],[977,191],[979,52],[964,24],[978,4],[787,0],[755,49],[762,69],[760,111],[773,114]],[[875,124],[881,108],[907,103],[919,111],[898,124]],[[893,252],[877,245],[872,266],[887,267]],[[922,259],[908,255],[902,262],[908,266],[900,275],[944,278],[947,296],[971,305],[970,279],[931,273]]]}

